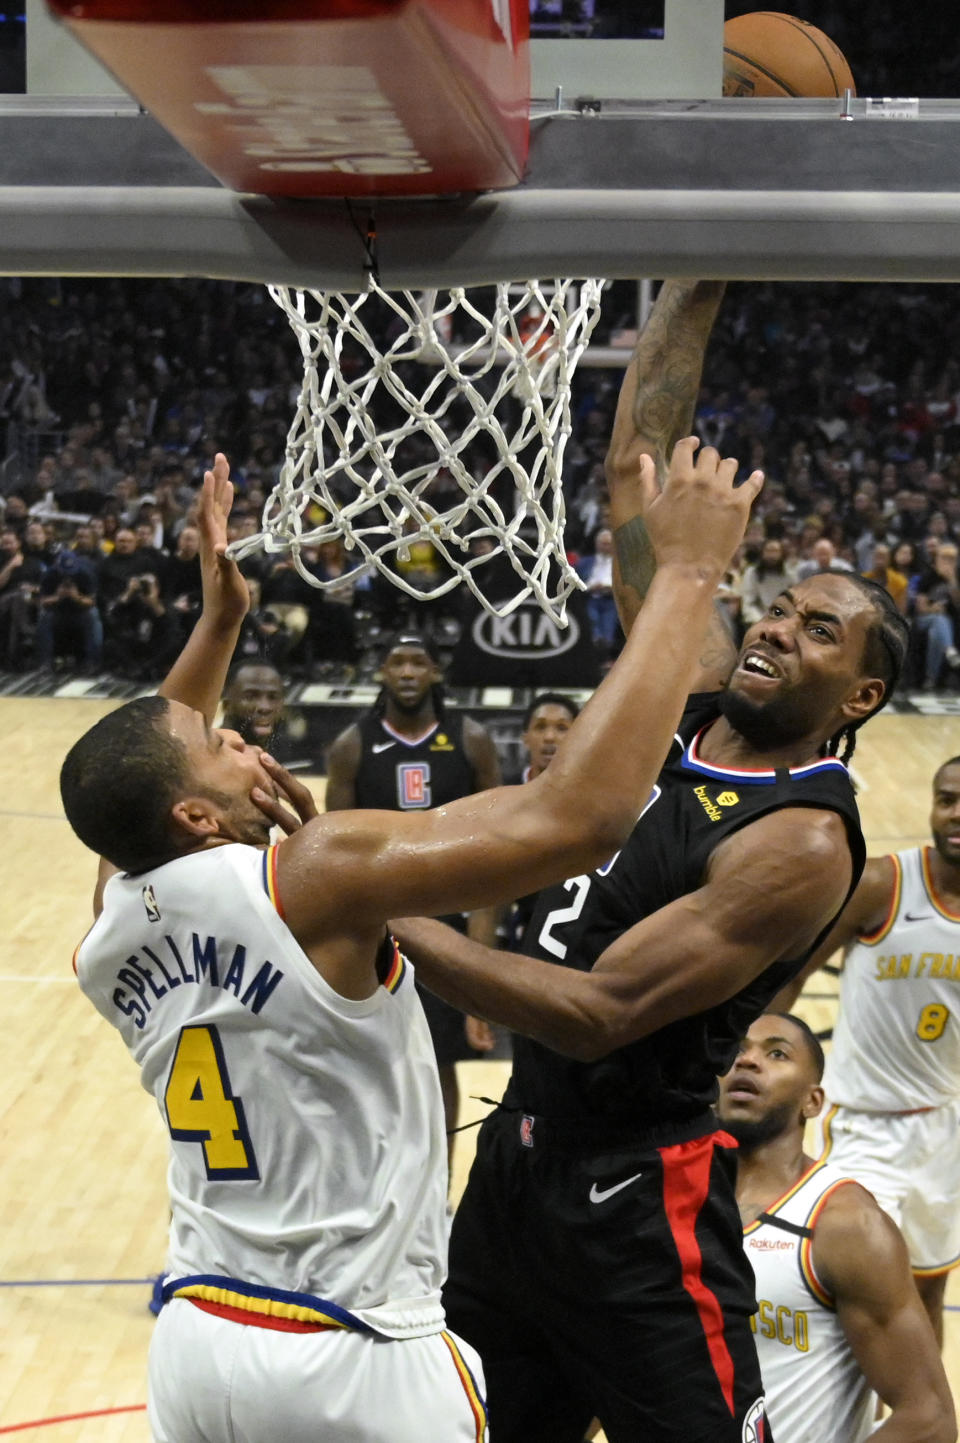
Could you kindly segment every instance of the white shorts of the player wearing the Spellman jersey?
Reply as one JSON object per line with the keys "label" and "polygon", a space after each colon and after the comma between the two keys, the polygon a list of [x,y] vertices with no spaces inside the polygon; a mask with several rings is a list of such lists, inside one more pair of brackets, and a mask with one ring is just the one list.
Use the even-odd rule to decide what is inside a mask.
{"label": "white shorts of the player wearing the Spellman jersey", "polygon": [[175,1297],[150,1343],[154,1443],[485,1443],[476,1352],[452,1333],[384,1339],[247,1326]]}

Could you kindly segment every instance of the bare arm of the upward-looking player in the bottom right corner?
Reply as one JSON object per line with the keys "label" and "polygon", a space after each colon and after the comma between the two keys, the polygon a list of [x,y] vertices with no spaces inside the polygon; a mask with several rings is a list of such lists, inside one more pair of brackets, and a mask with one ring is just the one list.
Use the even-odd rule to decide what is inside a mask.
{"label": "bare arm of the upward-looking player in the bottom right corner", "polygon": [[829,1199],[814,1231],[813,1264],[836,1299],[863,1377],[891,1410],[870,1437],[954,1443],[950,1385],[907,1247],[862,1188],[840,1188]]}

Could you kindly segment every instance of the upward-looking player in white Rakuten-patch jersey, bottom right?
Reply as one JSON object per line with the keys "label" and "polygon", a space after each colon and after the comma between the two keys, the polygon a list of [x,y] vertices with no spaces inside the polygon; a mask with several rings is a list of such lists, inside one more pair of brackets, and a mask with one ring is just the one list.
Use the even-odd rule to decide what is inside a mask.
{"label": "upward-looking player in white Rakuten-patch jersey, bottom right", "polygon": [[899,1232],[869,1192],[803,1150],[823,1107],[810,1027],[765,1013],[720,1079],[717,1117],[738,1144],[736,1199],[756,1278],[754,1317],[777,1443],[873,1434],[953,1443],[953,1400]]}

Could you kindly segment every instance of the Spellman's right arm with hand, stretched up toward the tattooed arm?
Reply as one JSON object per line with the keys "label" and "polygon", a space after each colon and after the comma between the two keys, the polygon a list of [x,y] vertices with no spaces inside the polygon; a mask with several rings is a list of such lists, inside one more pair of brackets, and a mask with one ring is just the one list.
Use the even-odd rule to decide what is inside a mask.
{"label": "Spellman's right arm with hand, stretched up toward the tattooed arm", "polygon": [[[525,786],[424,812],[328,814],[280,848],[280,895],[302,941],[358,916],[439,915],[510,900],[599,866],[632,830],[683,711],[719,574],[762,478],[680,442],[667,485],[642,466],[660,570],[621,658]],[[642,727],[638,726],[642,717]],[[322,879],[323,885],[318,886]]]}

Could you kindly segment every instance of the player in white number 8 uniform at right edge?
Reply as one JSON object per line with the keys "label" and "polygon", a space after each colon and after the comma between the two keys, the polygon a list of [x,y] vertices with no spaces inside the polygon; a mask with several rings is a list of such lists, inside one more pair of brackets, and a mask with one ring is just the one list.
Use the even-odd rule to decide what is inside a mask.
{"label": "player in white number 8 uniform at right edge", "polygon": [[899,1224],[943,1345],[960,1263],[960,756],[934,773],[933,847],[870,857],[843,916],[781,1000],[843,948],[823,1156]]}

